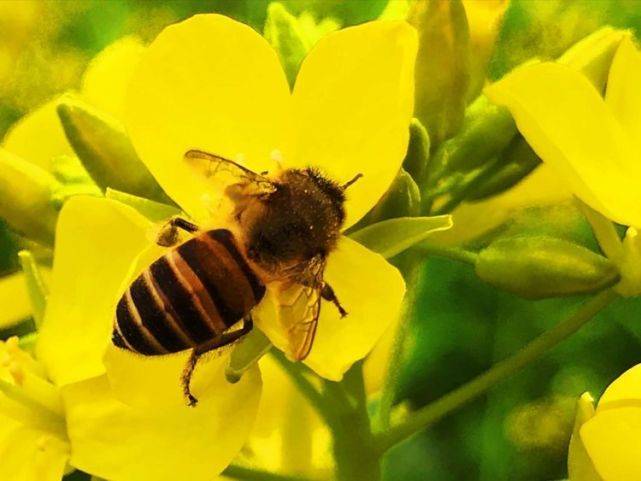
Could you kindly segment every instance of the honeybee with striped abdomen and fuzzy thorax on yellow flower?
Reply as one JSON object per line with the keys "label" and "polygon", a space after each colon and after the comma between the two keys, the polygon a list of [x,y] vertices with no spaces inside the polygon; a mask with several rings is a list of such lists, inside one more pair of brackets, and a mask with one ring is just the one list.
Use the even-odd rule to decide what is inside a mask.
{"label": "honeybee with striped abdomen and fuzzy thorax on yellow flower", "polygon": [[[112,340],[146,356],[193,349],[181,382],[188,404],[195,406],[190,381],[198,359],[251,331],[252,309],[266,286],[288,292],[290,305],[303,306],[289,329],[296,360],[312,349],[321,300],[347,315],[323,273],[345,220],[345,190],[361,174],[341,185],[314,168],[270,177],[199,150],[188,151],[185,160],[212,179],[224,179],[232,206],[227,228],[201,230],[172,218],[157,239],[172,249],[120,298]],[[180,242],[179,229],[191,237]],[[232,329],[241,321],[242,327]]]}

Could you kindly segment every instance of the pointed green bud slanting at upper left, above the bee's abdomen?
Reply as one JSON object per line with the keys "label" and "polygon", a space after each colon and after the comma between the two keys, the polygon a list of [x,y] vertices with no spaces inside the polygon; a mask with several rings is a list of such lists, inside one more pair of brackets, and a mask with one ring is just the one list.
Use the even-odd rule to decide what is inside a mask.
{"label": "pointed green bud slanting at upper left, above the bee's abdomen", "polygon": [[58,104],[58,115],[67,140],[102,190],[111,187],[171,203],[116,120],[71,97]]}

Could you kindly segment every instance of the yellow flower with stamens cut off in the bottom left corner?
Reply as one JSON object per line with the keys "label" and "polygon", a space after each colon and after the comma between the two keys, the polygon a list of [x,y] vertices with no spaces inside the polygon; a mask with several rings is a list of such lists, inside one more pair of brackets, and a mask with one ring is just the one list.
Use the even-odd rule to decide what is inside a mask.
{"label": "yellow flower with stamens cut off in the bottom left corner", "polygon": [[60,393],[16,337],[0,341],[0,459],[11,481],[60,481],[69,459]]}

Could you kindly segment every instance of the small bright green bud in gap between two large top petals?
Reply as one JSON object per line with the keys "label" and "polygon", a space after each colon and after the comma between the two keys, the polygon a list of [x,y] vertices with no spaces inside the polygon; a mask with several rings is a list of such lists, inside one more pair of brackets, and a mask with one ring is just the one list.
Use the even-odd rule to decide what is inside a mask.
{"label": "small bright green bud in gap between two large top petals", "polygon": [[298,19],[280,2],[270,3],[263,35],[278,53],[289,85],[293,86],[300,64],[309,50]]}

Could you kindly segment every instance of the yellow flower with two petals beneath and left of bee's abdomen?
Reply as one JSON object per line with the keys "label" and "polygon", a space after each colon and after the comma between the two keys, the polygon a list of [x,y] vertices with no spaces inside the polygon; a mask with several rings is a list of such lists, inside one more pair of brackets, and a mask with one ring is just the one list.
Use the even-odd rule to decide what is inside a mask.
{"label": "yellow flower with two petals beneath and left of bee's abdomen", "polygon": [[111,200],[66,203],[36,353],[60,389],[72,466],[111,481],[206,481],[245,442],[260,374],[253,368],[229,384],[226,355],[202,363],[193,379],[200,403],[192,409],[179,382],[188,352],[149,358],[114,349],[103,361],[118,293],[136,272],[150,228]]}

